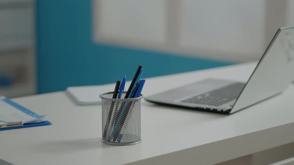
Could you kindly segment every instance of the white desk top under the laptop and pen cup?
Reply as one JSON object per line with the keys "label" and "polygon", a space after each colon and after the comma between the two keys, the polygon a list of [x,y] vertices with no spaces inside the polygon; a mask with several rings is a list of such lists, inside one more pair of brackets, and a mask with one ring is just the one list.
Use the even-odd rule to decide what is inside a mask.
{"label": "white desk top under the laptop and pen cup", "polygon": [[[255,65],[147,79],[143,94],[206,77],[246,81]],[[232,115],[159,106],[144,100],[142,143],[133,146],[101,142],[101,105],[75,105],[64,92],[13,100],[46,114],[53,123],[0,131],[0,159],[16,165],[208,165],[294,142],[293,85],[277,97]]]}

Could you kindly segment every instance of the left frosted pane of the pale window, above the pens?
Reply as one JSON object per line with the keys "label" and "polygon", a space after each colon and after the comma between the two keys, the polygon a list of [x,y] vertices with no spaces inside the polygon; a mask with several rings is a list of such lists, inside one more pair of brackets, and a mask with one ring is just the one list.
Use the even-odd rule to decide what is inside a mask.
{"label": "left frosted pane of the pale window, above the pens", "polygon": [[164,44],[166,0],[95,0],[95,39],[121,44]]}

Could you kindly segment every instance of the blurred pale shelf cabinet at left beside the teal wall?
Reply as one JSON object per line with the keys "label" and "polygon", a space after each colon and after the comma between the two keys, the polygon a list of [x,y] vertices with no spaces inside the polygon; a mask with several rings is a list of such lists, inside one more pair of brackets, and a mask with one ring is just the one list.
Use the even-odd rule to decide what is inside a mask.
{"label": "blurred pale shelf cabinet at left beside the teal wall", "polygon": [[36,92],[34,1],[0,0],[0,95]]}

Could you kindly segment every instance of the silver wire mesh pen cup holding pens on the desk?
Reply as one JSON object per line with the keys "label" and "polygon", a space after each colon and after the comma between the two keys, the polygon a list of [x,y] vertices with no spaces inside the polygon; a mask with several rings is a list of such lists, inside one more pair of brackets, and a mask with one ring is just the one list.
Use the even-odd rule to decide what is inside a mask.
{"label": "silver wire mesh pen cup holding pens on the desk", "polygon": [[141,99],[112,98],[114,92],[100,94],[102,99],[102,142],[110,145],[133,145],[141,142]]}

